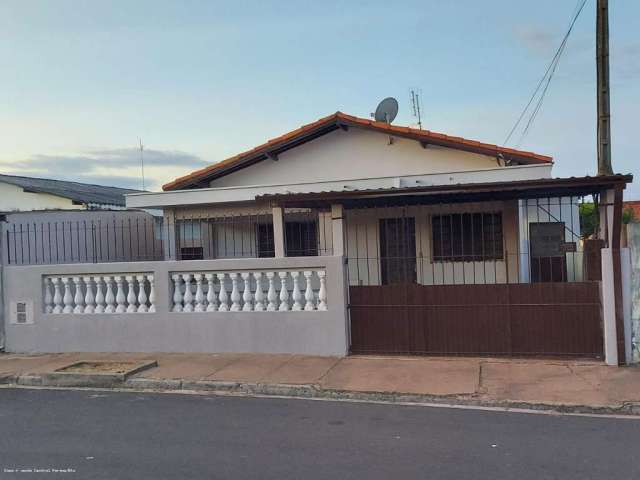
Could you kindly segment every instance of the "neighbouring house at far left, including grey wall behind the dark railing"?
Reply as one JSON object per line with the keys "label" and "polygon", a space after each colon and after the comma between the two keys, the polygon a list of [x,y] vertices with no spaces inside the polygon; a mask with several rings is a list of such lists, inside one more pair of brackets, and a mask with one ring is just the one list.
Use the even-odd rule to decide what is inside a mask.
{"label": "neighbouring house at far left, including grey wall behind the dark railing", "polygon": [[138,190],[0,175],[4,265],[115,262],[164,257],[152,211],[126,210]]}

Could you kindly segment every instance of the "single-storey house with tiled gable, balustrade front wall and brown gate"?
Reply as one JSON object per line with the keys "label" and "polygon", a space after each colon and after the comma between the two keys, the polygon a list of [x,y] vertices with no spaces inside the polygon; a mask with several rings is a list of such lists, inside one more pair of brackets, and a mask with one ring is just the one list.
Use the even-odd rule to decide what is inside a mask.
{"label": "single-storey house with tiled gable, balustrade front wall and brown gate", "polygon": [[[129,208],[163,210],[162,262],[16,267],[27,276],[8,298],[33,315],[7,314],[38,327],[9,322],[7,348],[624,363],[620,218],[632,177],[553,178],[552,167],[337,112],[163,192],[127,195]],[[579,207],[594,199],[601,243],[585,252]]]}

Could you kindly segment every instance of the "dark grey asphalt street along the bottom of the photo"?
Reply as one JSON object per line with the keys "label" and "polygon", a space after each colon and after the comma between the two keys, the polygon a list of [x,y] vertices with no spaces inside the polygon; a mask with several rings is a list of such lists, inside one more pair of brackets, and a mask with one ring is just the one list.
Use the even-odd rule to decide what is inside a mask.
{"label": "dark grey asphalt street along the bottom of the photo", "polygon": [[0,478],[637,479],[640,420],[0,389]]}

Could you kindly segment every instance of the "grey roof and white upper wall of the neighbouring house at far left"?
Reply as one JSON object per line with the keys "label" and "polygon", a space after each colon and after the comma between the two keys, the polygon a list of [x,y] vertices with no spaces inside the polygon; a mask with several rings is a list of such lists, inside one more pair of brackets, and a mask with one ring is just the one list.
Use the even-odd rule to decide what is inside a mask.
{"label": "grey roof and white upper wall of the neighbouring house at far left", "polygon": [[0,174],[0,212],[125,208],[124,196],[139,190]]}

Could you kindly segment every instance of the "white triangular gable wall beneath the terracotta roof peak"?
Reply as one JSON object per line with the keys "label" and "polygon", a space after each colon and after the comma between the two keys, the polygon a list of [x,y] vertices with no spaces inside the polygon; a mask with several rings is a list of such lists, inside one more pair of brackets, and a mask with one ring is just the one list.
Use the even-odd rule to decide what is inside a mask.
{"label": "white triangular gable wall beneath the terracotta roof peak", "polygon": [[[336,130],[210,183],[211,187],[323,182],[495,169],[496,158],[359,128]],[[509,167],[504,167],[509,168]]]}

